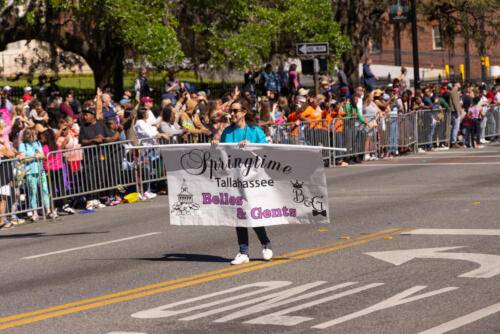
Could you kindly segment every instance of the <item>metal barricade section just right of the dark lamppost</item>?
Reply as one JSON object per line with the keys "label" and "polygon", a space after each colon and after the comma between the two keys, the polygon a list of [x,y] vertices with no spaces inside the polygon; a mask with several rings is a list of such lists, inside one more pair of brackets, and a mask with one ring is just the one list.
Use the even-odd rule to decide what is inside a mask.
{"label": "metal barricade section just right of the dark lamppost", "polygon": [[417,110],[417,138],[419,146],[438,146],[450,142],[451,118],[446,109]]}

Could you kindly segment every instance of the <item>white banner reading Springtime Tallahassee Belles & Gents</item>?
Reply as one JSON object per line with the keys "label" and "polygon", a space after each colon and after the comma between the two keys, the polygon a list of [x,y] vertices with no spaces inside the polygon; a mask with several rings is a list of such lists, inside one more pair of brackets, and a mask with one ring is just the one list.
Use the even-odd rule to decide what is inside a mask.
{"label": "white banner reading Springtime Tallahassee Belles & Gents", "polygon": [[159,146],[170,224],[257,227],[329,223],[319,150],[307,146]]}

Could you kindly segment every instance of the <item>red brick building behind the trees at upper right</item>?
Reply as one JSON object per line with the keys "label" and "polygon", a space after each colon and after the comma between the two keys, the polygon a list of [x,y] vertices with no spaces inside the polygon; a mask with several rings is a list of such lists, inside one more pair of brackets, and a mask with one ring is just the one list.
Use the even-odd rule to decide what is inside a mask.
{"label": "red brick building behind the trees at upper right", "polygon": [[[394,26],[391,25],[391,30],[382,38],[381,45],[370,43],[368,50],[369,56],[373,59],[373,63],[377,65],[397,66],[395,56],[395,41],[394,41]],[[408,23],[405,27],[401,26],[400,30],[400,49],[401,49],[401,65],[405,67],[413,67],[413,49],[411,24]],[[460,64],[466,64],[465,48],[462,38],[457,38],[455,48],[450,50],[444,45],[439,22],[431,24],[418,24],[418,49],[419,49],[419,65],[420,68],[444,70],[445,65],[450,66],[450,75],[460,74]],[[474,44],[470,43],[470,79],[479,80],[481,78],[481,57]],[[490,69],[494,66],[500,66],[500,43],[496,43],[492,48],[488,49],[490,59]],[[487,74],[490,77],[490,73]],[[444,79],[444,78],[443,78]]]}

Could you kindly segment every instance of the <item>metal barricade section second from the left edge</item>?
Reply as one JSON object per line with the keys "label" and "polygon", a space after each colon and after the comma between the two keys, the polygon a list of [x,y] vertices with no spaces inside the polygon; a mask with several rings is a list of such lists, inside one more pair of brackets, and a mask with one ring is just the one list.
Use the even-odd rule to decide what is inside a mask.
{"label": "metal barricade section second from the left edge", "polygon": [[[52,208],[57,200],[136,185],[135,151],[128,146],[130,141],[120,141],[49,152]],[[62,168],[50,170],[59,159]]]}

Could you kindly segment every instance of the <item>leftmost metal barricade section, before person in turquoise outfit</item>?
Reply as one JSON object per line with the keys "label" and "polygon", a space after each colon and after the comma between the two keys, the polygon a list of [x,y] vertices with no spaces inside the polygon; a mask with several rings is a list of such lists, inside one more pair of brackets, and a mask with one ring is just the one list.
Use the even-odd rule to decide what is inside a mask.
{"label": "leftmost metal barricade section, before person in turquoise outfit", "polygon": [[[38,172],[26,173],[26,163],[37,163]],[[6,209],[0,216],[15,218],[17,215],[42,211],[45,219],[45,203],[43,190],[48,189],[47,178],[41,160],[26,162],[19,159],[0,160],[0,197],[6,201]]]}

